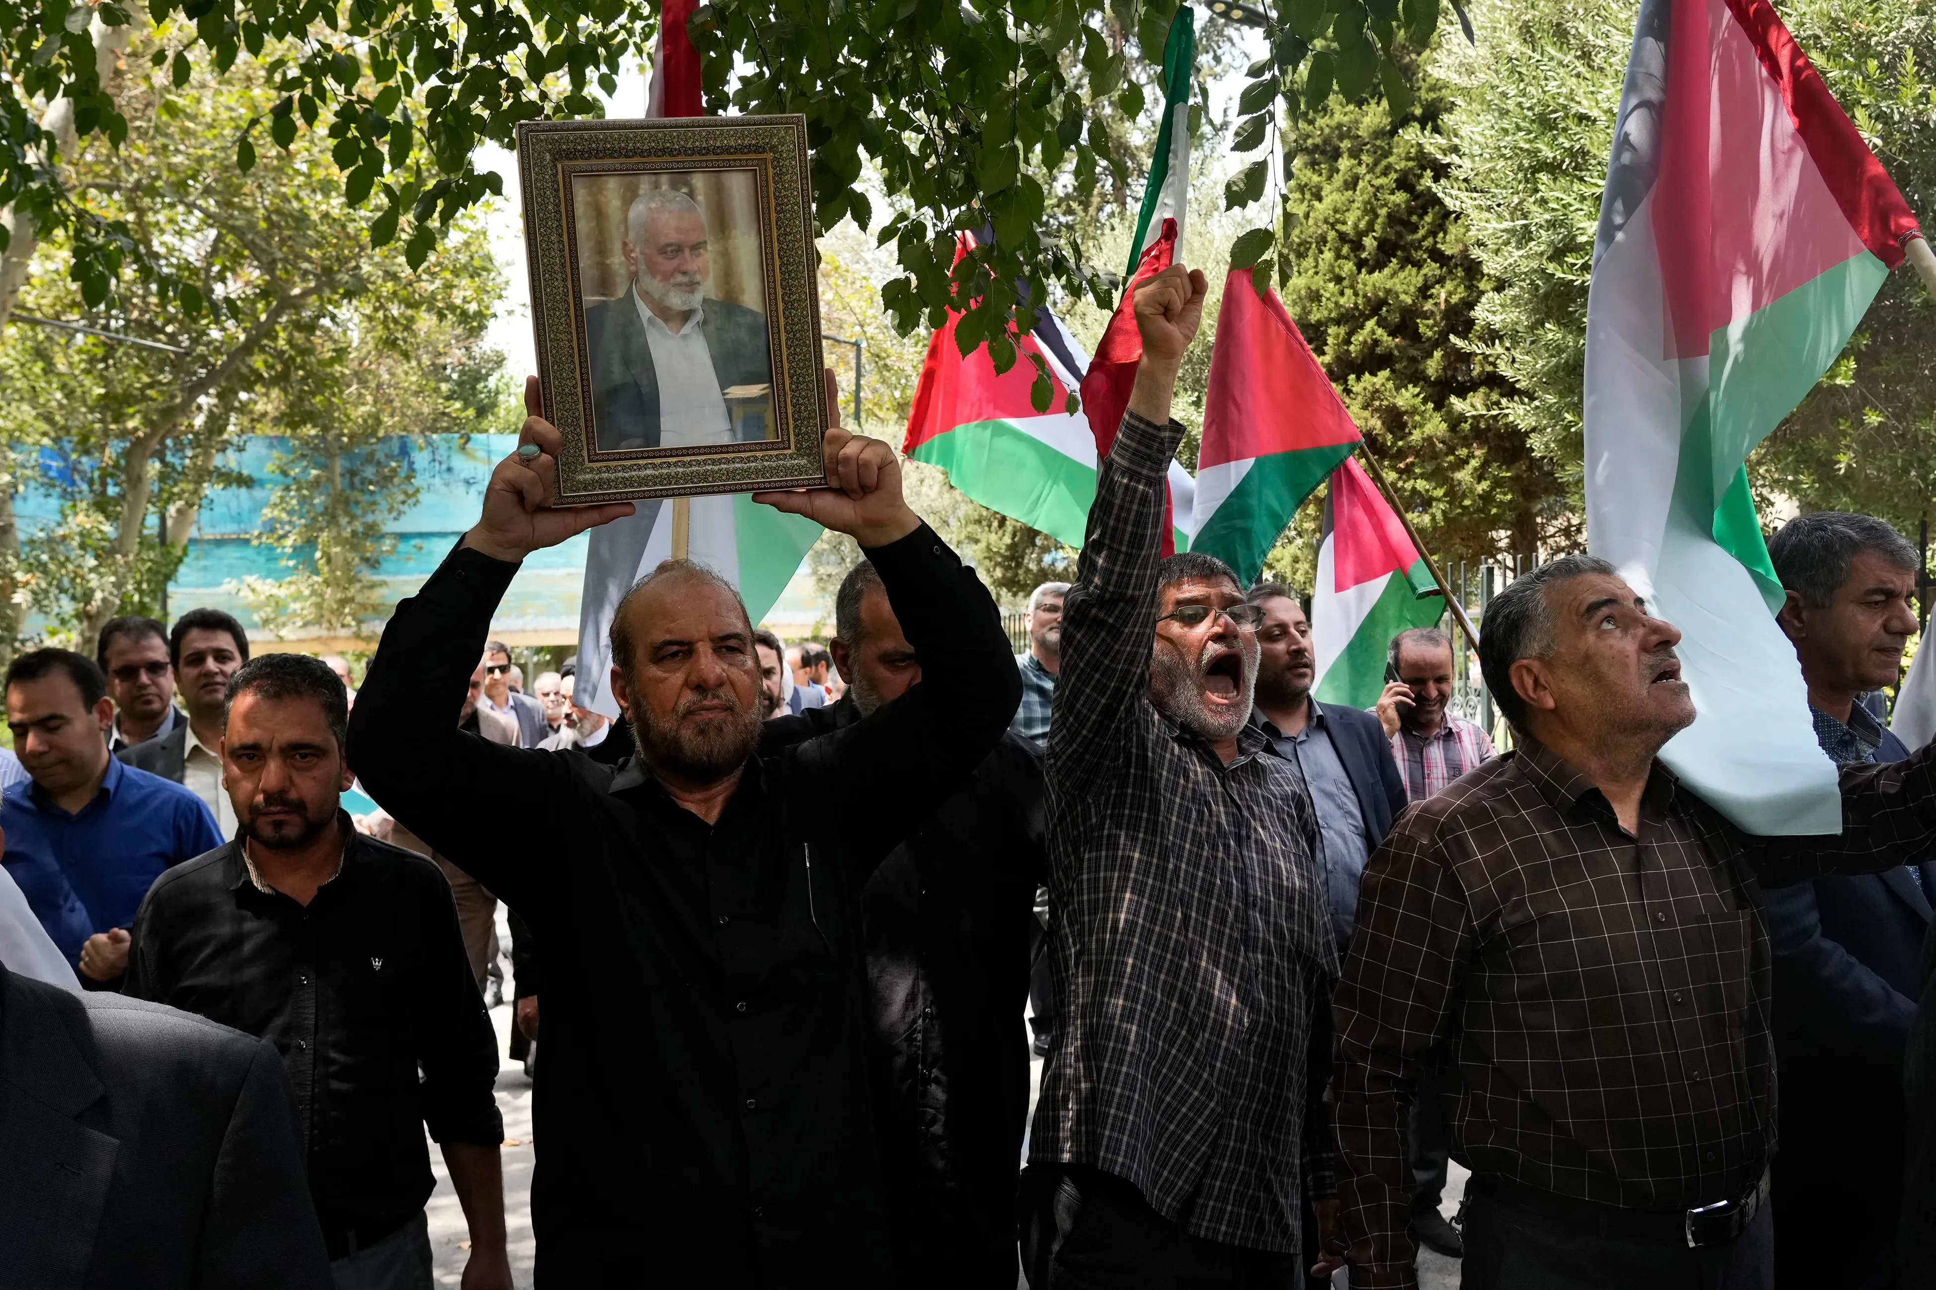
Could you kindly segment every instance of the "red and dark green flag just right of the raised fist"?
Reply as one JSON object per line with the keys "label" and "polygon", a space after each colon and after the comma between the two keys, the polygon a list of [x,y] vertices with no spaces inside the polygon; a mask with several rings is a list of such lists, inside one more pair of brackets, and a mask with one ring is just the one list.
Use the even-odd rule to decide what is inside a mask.
{"label": "red and dark green flag just right of the raised fist", "polygon": [[1363,436],[1276,291],[1224,281],[1196,453],[1191,550],[1255,583],[1305,498]]}

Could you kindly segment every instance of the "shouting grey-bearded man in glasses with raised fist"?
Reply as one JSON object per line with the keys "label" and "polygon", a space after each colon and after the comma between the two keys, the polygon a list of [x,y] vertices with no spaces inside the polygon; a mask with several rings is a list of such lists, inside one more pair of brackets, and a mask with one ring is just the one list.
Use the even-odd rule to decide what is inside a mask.
{"label": "shouting grey-bearded man in glasses with raised fist", "polygon": [[[1049,961],[1063,999],[1022,1180],[1034,1286],[1280,1286],[1328,1193],[1336,974],[1295,765],[1251,724],[1235,575],[1158,558],[1202,273],[1136,289],[1129,411],[1065,597],[1049,728]],[[1320,1199],[1320,1218],[1336,1214]],[[1324,1273],[1334,1263],[1320,1265]]]}

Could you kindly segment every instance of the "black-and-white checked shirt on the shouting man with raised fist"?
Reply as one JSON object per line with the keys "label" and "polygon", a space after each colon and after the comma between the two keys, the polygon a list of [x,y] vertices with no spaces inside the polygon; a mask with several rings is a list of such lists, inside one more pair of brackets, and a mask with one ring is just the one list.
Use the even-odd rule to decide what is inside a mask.
{"label": "black-and-white checked shirt on the shouting man with raised fist", "polygon": [[1107,1170],[1183,1230],[1301,1245],[1330,1193],[1336,951],[1295,767],[1229,765],[1148,699],[1164,469],[1183,428],[1123,418],[1096,480],[1049,728],[1049,970],[1065,1023],[1030,1160]]}

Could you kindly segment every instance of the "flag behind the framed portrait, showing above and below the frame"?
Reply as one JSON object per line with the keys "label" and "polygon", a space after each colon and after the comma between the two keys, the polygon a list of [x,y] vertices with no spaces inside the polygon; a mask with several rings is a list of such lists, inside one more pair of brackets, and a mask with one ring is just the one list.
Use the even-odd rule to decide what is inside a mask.
{"label": "flag behind the framed portrait, showing above and below the frame", "polygon": [[[699,54],[685,21],[695,0],[666,0],[652,54],[647,116],[699,116]],[[685,498],[685,556],[734,587],[745,612],[759,622],[792,581],[821,529],[805,515],[786,515],[759,506],[745,494]],[[585,550],[585,591],[579,597],[579,668],[573,701],[594,713],[618,717],[610,693],[612,616],[631,585],[674,552],[674,502],[637,502],[625,519],[590,531]]]}

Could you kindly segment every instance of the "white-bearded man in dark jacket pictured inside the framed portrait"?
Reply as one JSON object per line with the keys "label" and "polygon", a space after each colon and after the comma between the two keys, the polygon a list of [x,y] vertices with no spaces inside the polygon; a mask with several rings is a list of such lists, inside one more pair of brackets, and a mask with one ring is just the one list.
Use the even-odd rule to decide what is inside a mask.
{"label": "white-bearded man in dark jacket pictured inside the framed portrait", "polygon": [[618,300],[585,308],[598,451],[772,438],[767,316],[707,294],[707,213],[654,188],[625,213]]}

